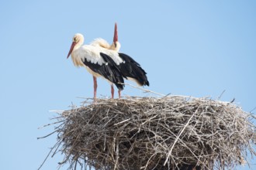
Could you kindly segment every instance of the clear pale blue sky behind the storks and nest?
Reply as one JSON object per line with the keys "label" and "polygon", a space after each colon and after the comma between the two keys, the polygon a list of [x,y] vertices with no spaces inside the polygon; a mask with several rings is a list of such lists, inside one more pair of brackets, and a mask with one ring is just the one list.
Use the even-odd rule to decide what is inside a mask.
{"label": "clear pale blue sky behind the storks and nest", "polygon": [[[56,116],[49,110],[93,96],[92,76],[66,59],[72,37],[112,42],[115,22],[121,51],[147,71],[149,90],[213,99],[226,90],[221,100],[254,109],[255,9],[253,0],[0,2],[0,168],[40,166],[56,141],[36,139],[53,131],[37,129]],[[105,80],[98,93],[110,96]],[[131,87],[123,94],[147,95]],[[57,169],[62,158],[42,169]]]}

